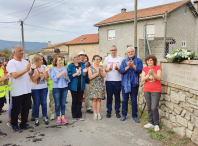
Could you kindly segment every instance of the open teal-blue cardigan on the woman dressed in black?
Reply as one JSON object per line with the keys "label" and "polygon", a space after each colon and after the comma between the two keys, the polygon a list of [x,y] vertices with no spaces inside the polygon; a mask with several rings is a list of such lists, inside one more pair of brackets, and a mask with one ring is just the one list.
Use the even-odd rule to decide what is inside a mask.
{"label": "open teal-blue cardigan on the woman dressed in black", "polygon": [[[85,65],[80,63],[80,66],[81,66],[81,91],[83,91],[83,90],[85,90],[85,79],[87,79],[88,76],[87,76],[87,73],[86,73],[86,76],[83,76],[83,69],[85,68]],[[76,73],[76,68],[74,66],[74,63],[69,64],[67,71],[68,71],[68,76],[70,79],[69,90],[77,91],[78,76],[76,76],[76,77],[72,76],[73,74]]]}

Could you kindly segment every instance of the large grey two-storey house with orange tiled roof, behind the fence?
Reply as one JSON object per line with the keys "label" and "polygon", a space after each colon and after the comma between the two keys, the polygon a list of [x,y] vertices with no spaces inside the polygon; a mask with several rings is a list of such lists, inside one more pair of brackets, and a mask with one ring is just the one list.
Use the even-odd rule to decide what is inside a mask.
{"label": "large grey two-storey house with orange tiled roof, behind the fence", "polygon": [[[195,38],[197,16],[195,6],[190,0],[138,10],[137,56],[144,58],[145,36],[148,38],[151,54],[158,59],[163,59],[165,54],[178,48],[187,48],[198,53]],[[121,13],[94,26],[99,28],[100,55],[106,56],[110,46],[116,45],[118,55],[125,58],[126,48],[134,44],[134,11],[126,12],[126,9],[122,9]],[[144,35],[145,29],[147,35]]]}

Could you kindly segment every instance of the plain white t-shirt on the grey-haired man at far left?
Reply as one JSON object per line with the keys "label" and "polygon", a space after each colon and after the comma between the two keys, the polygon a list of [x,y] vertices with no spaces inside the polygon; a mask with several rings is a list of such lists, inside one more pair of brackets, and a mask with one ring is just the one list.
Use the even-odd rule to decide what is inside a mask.
{"label": "plain white t-shirt on the grey-haired man at far left", "polygon": [[22,61],[17,61],[15,59],[12,59],[8,62],[7,65],[7,71],[10,75],[10,82],[11,82],[11,95],[12,96],[20,96],[23,94],[31,93],[31,87],[30,87],[30,78],[29,78],[29,72],[26,72],[24,75],[13,78],[11,73],[13,72],[20,72],[27,68],[28,61],[22,59]]}

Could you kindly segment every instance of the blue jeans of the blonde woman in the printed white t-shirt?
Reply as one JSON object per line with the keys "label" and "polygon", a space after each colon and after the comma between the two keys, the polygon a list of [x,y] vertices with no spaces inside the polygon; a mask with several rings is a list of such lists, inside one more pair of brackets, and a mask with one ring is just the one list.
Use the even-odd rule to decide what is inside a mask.
{"label": "blue jeans of the blonde woman in the printed white t-shirt", "polygon": [[48,88],[32,89],[32,98],[34,102],[34,116],[39,118],[39,107],[42,106],[43,117],[47,117],[47,92]]}

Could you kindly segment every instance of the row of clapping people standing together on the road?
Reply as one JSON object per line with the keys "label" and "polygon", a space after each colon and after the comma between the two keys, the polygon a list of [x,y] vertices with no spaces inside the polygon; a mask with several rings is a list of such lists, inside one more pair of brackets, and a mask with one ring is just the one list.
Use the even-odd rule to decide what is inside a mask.
{"label": "row of clapping people standing together on the road", "polygon": [[[94,113],[94,120],[101,120],[101,99],[107,95],[107,113],[110,118],[112,113],[112,101],[115,97],[115,114],[121,121],[126,119],[128,113],[128,100],[131,98],[132,118],[136,123],[138,119],[137,95],[139,89],[139,76],[145,82],[144,93],[149,113],[149,123],[145,128],[159,130],[158,105],[161,96],[161,67],[157,65],[157,58],[149,55],[145,58],[147,67],[143,68],[143,62],[135,56],[133,47],[127,48],[126,59],[117,55],[115,45],[110,47],[110,55],[101,64],[101,57],[94,55],[92,62],[81,51],[73,54],[71,63],[65,63],[60,56],[60,50],[55,49],[52,64],[43,65],[43,56],[36,54],[33,64],[23,60],[23,49],[20,46],[12,48],[13,59],[8,62],[8,75],[0,78],[0,83],[7,84],[8,78],[11,84],[12,110],[11,125],[13,131],[29,129],[27,124],[29,109],[31,109],[31,96],[33,99],[33,111],[35,125],[39,125],[39,107],[42,106],[43,123],[49,124],[47,118],[47,94],[50,96],[50,119],[57,118],[56,123],[68,123],[65,117],[65,104],[68,90],[72,96],[72,118],[84,121],[81,107],[83,94],[85,93],[86,112]],[[1,74],[1,70],[0,70]],[[30,83],[31,82],[31,83]],[[1,88],[0,88],[1,89]],[[122,93],[122,110],[120,115]],[[1,96],[1,93],[0,93]],[[3,95],[2,95],[3,96]],[[4,95],[5,96],[5,95]],[[92,108],[90,106],[92,100]],[[1,101],[1,98],[0,98]],[[21,112],[21,123],[18,126],[18,116]]]}

